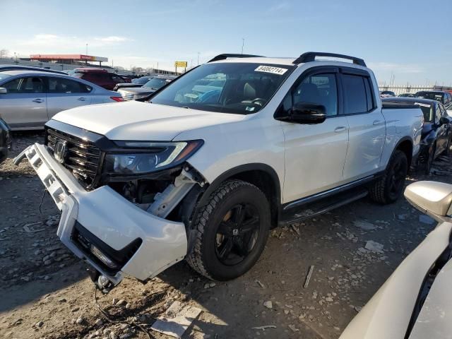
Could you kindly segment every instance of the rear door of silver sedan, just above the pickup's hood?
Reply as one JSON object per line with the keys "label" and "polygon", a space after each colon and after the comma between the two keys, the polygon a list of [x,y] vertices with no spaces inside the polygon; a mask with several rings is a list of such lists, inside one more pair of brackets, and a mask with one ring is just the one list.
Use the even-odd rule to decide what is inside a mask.
{"label": "rear door of silver sedan, just above the pickup's hood", "polygon": [[47,79],[47,114],[51,119],[58,112],[73,107],[90,105],[92,87],[75,80],[59,77]]}

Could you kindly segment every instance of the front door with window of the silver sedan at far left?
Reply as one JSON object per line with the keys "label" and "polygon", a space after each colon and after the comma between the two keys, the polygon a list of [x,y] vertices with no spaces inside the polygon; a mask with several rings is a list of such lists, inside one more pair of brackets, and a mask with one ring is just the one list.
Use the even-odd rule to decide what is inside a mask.
{"label": "front door with window of the silver sedan at far left", "polygon": [[37,129],[47,122],[44,81],[39,76],[15,78],[1,85],[0,116],[11,129]]}

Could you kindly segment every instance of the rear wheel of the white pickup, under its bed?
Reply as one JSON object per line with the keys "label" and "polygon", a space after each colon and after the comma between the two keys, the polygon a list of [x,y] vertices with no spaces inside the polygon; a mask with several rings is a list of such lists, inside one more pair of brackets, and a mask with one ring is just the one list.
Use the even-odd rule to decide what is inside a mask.
{"label": "rear wheel of the white pickup, under its bed", "polygon": [[408,173],[408,160],[401,150],[394,151],[383,177],[369,189],[370,198],[376,203],[393,203],[403,192]]}

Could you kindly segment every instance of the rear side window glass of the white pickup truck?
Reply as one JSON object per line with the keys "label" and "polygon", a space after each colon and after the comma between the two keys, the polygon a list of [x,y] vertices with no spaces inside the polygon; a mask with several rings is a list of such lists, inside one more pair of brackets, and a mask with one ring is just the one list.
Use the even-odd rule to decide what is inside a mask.
{"label": "rear side window glass of the white pickup truck", "polygon": [[[344,112],[345,114],[356,114],[368,112],[364,77],[351,74],[343,74]],[[369,89],[370,90],[370,89]]]}

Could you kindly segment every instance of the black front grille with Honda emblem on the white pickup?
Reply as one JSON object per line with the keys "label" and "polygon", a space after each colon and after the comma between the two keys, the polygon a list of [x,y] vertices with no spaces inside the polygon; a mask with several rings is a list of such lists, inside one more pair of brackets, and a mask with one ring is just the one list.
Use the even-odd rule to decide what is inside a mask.
{"label": "black front grille with Honda emblem on the white pickup", "polygon": [[100,165],[100,149],[92,142],[68,133],[47,129],[47,146],[54,153],[58,141],[66,141],[66,155],[62,164],[69,169],[83,186],[91,186]]}

